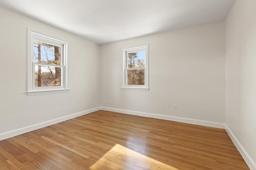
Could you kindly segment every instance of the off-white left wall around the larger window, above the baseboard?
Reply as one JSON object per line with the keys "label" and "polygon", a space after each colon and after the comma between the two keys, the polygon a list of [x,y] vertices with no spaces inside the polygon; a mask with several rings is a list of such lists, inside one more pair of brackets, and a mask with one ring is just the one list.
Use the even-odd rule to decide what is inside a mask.
{"label": "off-white left wall around the larger window, above the baseboard", "polygon": [[[26,95],[28,27],[70,41],[70,92]],[[99,45],[1,7],[0,133],[99,107],[99,60]]]}

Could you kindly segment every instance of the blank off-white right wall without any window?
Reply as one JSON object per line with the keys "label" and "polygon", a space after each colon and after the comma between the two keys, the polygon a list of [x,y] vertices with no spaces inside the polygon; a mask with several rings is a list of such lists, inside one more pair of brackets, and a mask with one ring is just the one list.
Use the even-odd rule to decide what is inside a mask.
{"label": "blank off-white right wall without any window", "polygon": [[236,1],[226,18],[226,125],[256,169],[256,1]]}

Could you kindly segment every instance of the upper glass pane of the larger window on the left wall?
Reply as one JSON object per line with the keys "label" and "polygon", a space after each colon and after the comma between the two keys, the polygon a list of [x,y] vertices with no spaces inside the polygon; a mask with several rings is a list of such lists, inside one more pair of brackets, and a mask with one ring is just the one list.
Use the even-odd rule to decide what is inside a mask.
{"label": "upper glass pane of the larger window on the left wall", "polygon": [[61,47],[34,40],[34,61],[38,63],[61,64]]}

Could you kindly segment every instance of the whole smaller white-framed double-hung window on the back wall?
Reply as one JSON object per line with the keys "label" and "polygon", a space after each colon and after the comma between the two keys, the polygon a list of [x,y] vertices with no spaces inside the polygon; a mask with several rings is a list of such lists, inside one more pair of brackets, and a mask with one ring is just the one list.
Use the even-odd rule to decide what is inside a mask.
{"label": "whole smaller white-framed double-hung window on the back wall", "polygon": [[122,90],[148,91],[148,45],[123,49]]}

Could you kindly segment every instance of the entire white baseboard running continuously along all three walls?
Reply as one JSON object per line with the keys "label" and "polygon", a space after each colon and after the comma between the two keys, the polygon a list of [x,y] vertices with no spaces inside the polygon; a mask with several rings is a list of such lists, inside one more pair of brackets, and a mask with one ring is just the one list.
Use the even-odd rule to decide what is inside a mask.
{"label": "entire white baseboard running continuously along all three walls", "polygon": [[198,120],[198,119],[189,119],[189,118],[184,118],[184,117],[175,117],[175,116],[168,116],[168,115],[159,115],[159,114],[146,113],[146,112],[140,112],[140,111],[115,109],[115,108],[110,108],[110,107],[96,107],[96,108],[93,108],[93,109],[88,109],[88,110],[85,110],[85,111],[81,111],[81,112],[74,113],[74,114],[71,114],[71,115],[66,115],[66,116],[59,117],[59,118],[56,118],[56,119],[52,119],[52,120],[49,120],[49,121],[44,121],[44,122],[37,123],[37,124],[34,124],[34,125],[30,125],[30,126],[27,126],[27,127],[22,127],[20,129],[15,129],[15,130],[12,130],[12,131],[7,131],[7,132],[4,132],[4,133],[0,133],[0,141],[2,141],[4,139],[8,139],[10,137],[21,135],[23,133],[28,133],[28,132],[34,131],[36,129],[40,129],[40,128],[47,127],[47,126],[50,126],[50,125],[53,125],[53,124],[56,124],[56,123],[60,123],[62,121],[66,121],[66,120],[73,119],[73,118],[76,118],[76,117],[79,117],[79,116],[82,116],[82,115],[86,115],[86,114],[89,114],[89,113],[92,113],[92,112],[98,111],[98,110],[114,111],[114,112],[118,112],[118,113],[130,114],[130,115],[138,115],[138,116],[151,117],[151,118],[156,118],[156,119],[163,119],[163,120],[177,121],[177,122],[182,122],[182,123],[190,123],[190,124],[194,124],[194,125],[202,125],[202,126],[226,129],[228,135],[230,136],[232,142],[234,143],[234,145],[236,146],[236,148],[238,149],[238,151],[240,152],[240,154],[244,158],[246,164],[249,166],[249,168],[251,170],[256,170],[256,163],[254,162],[254,160],[252,160],[250,155],[246,152],[244,147],[241,145],[241,143],[238,141],[236,136],[229,129],[228,125],[226,125],[225,123],[204,121],[204,120]]}

